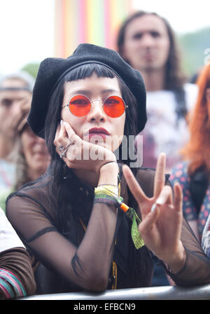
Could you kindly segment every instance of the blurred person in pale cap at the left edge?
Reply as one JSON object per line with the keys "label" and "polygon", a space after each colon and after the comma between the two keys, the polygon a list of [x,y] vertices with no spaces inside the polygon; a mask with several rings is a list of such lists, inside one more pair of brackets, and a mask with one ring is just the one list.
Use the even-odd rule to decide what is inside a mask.
{"label": "blurred person in pale cap at the left edge", "polygon": [[25,71],[0,78],[0,191],[15,181],[14,156],[18,125],[29,112],[34,78]]}

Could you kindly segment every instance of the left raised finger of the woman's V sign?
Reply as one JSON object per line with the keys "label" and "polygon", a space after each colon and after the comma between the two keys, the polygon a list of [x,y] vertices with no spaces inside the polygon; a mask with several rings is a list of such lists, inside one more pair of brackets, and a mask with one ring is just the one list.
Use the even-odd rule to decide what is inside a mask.
{"label": "left raised finger of the woman's V sign", "polygon": [[141,189],[141,186],[137,182],[137,179],[134,177],[132,171],[127,165],[123,165],[123,175],[126,179],[127,185],[129,186],[130,191],[132,192],[134,198],[139,203],[143,203],[145,200],[148,200],[144,191]]}

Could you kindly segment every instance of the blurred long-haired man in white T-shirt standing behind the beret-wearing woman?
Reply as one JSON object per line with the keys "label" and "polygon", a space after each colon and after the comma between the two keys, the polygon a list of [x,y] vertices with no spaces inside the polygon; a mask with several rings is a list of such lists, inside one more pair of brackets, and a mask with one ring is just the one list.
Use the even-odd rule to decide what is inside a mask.
{"label": "blurred long-haired man in white T-shirt standing behind the beret-wearing woman", "polygon": [[181,160],[179,149],[188,141],[186,114],[197,97],[197,86],[187,83],[181,69],[174,31],[157,13],[137,11],[121,25],[117,47],[123,59],[141,72],[146,85],[148,122],[140,134],[143,166],[155,168],[164,151],[170,170]]}

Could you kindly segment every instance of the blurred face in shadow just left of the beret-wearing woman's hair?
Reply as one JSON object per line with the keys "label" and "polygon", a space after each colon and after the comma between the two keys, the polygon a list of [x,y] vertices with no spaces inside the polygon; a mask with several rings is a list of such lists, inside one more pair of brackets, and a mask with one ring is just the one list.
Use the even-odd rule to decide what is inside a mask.
{"label": "blurred face in shadow just left of the beret-wearing woman's hair", "polygon": [[50,155],[45,140],[34,135],[29,125],[26,125],[21,133],[21,142],[29,172],[40,172],[40,175],[43,175],[50,163]]}

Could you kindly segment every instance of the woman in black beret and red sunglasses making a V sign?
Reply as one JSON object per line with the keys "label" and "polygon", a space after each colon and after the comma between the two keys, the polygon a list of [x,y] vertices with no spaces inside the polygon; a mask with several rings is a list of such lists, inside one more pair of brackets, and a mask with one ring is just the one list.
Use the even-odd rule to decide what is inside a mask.
{"label": "woman in black beret and red sunglasses making a V sign", "polygon": [[[181,189],[175,186],[173,203],[165,186],[165,154],[155,173],[130,170],[129,154],[123,171],[122,161],[116,163],[113,152],[123,156],[123,134],[136,135],[146,123],[139,71],[113,50],[89,44],[66,60],[46,59],[28,122],[45,137],[50,168],[13,193],[6,212],[39,261],[36,293],[146,287],[153,253],[177,284],[210,281],[209,260],[182,223]],[[137,210],[140,224],[131,209],[124,214],[125,204]]]}

